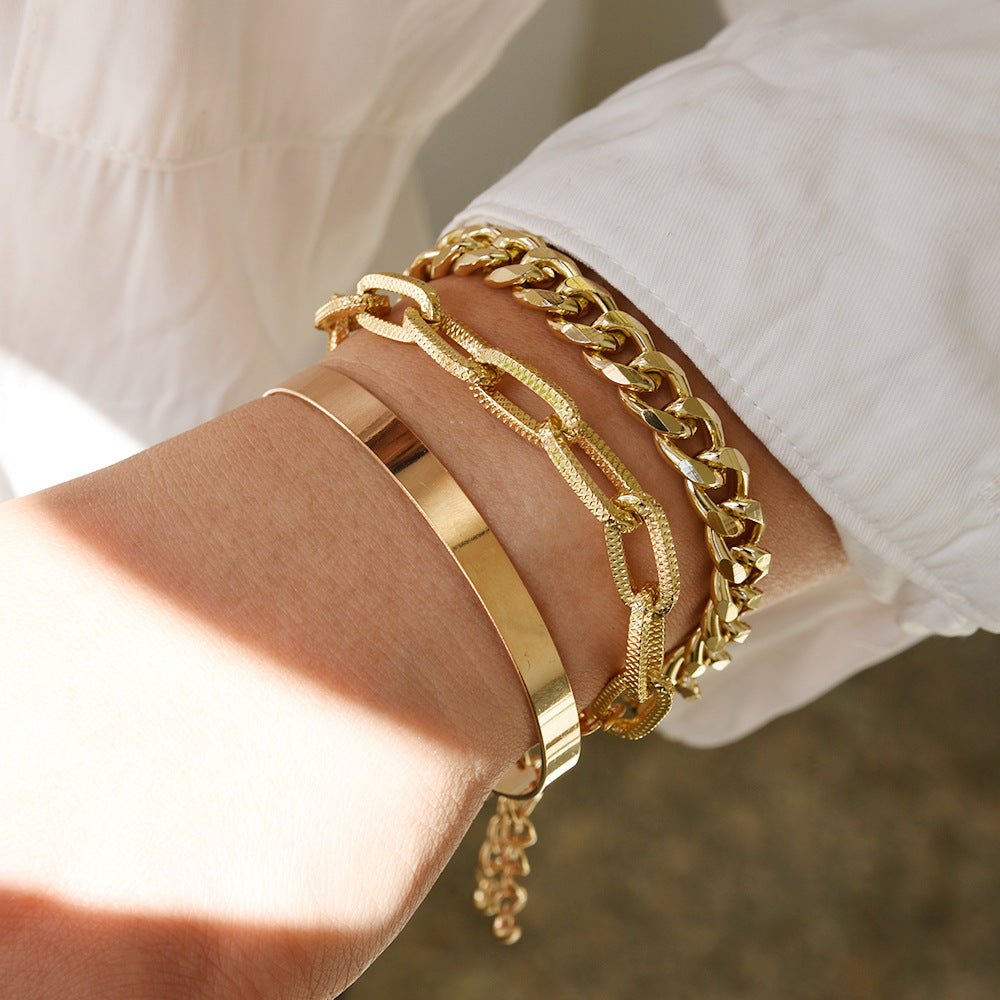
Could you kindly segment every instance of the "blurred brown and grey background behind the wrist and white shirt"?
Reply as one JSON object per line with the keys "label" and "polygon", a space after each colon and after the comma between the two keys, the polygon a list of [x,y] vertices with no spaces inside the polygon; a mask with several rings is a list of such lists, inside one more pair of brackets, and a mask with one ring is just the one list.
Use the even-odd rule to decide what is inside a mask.
{"label": "blurred brown and grey background behind the wrist and white shirt", "polygon": [[[721,25],[705,0],[549,0],[428,143],[423,224]],[[525,939],[472,909],[484,811],[350,1000],[995,1000],[998,717],[1000,637],[977,635],[719,750],[593,737],[537,814]]]}

